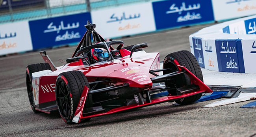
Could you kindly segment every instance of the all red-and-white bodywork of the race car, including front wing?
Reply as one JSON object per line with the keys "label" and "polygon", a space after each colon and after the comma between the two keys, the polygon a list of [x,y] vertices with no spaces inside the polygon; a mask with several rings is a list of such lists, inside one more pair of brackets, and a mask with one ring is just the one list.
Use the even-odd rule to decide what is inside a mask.
{"label": "all red-and-white bodywork of the race car, including front wing", "polygon": [[[80,49],[81,42],[78,45],[75,53]],[[111,47],[112,48],[112,47]],[[112,48],[113,49],[113,48]],[[79,70],[83,72],[89,82],[97,80],[104,80],[106,78],[111,80],[111,85],[121,85],[123,83],[128,83],[129,87],[137,87],[141,90],[150,90],[152,88],[152,81],[150,78],[155,77],[149,73],[150,70],[159,69],[160,65],[160,55],[159,53],[133,53],[132,58],[129,58],[130,51],[126,49],[119,50],[122,58],[114,59],[111,61],[105,61],[101,63],[95,63],[90,66],[84,65],[82,59],[79,61],[68,63],[64,66],[58,67],[56,71],[44,74],[39,78],[39,104],[36,105],[36,110],[50,113],[50,110],[58,109],[56,106],[50,110],[47,110],[50,106],[56,105],[55,98],[55,83],[59,74],[62,72]],[[74,53],[74,54],[75,54]],[[72,57],[74,57],[74,54]],[[175,61],[174,61],[175,62]],[[176,61],[177,62],[177,61]],[[85,99],[89,88],[84,87],[82,96],[80,98],[80,103],[76,109],[73,122],[79,123],[81,119],[96,117],[100,115],[112,114],[115,112],[120,112],[123,110],[128,110],[132,108],[140,108],[144,106],[150,106],[158,103],[164,103],[168,101],[174,101],[183,97],[189,97],[202,92],[212,92],[202,81],[200,81],[195,75],[193,75],[187,68],[180,66],[176,63],[179,70],[186,70],[186,74],[190,77],[191,83],[198,85],[199,90],[193,91],[181,96],[168,96],[158,99],[153,99],[151,103],[144,102],[143,105],[128,105],[119,108],[114,108],[108,112],[93,114],[93,115],[83,115],[83,107],[85,105]],[[64,79],[65,81],[65,79]],[[38,82],[38,81],[37,81]],[[67,83],[67,81],[65,81]]]}

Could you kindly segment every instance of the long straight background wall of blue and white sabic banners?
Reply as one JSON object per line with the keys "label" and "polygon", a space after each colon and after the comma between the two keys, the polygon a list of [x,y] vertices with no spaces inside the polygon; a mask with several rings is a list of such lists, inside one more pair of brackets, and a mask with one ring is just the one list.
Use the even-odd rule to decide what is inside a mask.
{"label": "long straight background wall of blue and white sabic banners", "polygon": [[[256,14],[255,2],[256,0],[162,0],[102,8],[90,13],[0,24],[0,55],[75,45],[86,31],[83,25],[87,20],[96,23],[96,30],[104,38],[117,38],[249,16]],[[244,27],[236,23],[239,24],[235,22],[225,26],[224,31],[242,34],[250,29],[245,27],[249,25],[247,23],[240,22],[245,24]],[[253,23],[250,25],[252,28],[255,26]],[[197,39],[199,43],[200,40],[204,42],[204,39]],[[193,42],[192,38],[190,42]],[[198,57],[200,56],[203,54],[199,55],[198,51]],[[215,56],[212,55],[211,58]]]}

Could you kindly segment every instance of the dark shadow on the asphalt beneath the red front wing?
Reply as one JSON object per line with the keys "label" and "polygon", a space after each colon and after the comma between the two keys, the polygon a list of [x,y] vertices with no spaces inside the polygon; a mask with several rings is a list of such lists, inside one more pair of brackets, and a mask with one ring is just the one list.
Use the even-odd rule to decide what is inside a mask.
{"label": "dark shadow on the asphalt beneath the red front wing", "polygon": [[160,105],[160,106],[151,106],[147,108],[137,108],[134,110],[126,111],[126,112],[118,112],[115,114],[105,115],[101,117],[92,118],[88,122],[82,122],[77,124],[77,126],[72,128],[86,128],[90,126],[99,126],[99,125],[108,125],[126,121],[134,121],[137,119],[147,119],[151,117],[160,117],[165,115],[180,115],[186,114],[188,110],[195,110],[198,108],[202,108],[201,105]]}

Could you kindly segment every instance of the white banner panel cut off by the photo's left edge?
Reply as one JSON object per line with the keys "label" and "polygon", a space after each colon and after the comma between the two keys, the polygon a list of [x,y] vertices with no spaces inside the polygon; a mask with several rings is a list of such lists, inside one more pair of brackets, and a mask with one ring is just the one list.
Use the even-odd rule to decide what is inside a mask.
{"label": "white banner panel cut off by the photo's left edge", "polygon": [[0,55],[32,49],[28,21],[0,25]]}

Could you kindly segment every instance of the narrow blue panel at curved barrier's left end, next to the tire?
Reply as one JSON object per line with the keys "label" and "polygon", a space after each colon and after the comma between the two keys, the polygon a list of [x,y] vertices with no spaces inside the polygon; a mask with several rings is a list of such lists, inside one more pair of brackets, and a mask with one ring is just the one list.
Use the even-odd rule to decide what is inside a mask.
{"label": "narrow blue panel at curved barrier's left end, next to the tire", "polygon": [[202,38],[193,37],[193,47],[195,58],[197,59],[200,67],[204,67],[204,54],[203,54],[203,47],[202,47]]}

